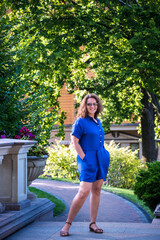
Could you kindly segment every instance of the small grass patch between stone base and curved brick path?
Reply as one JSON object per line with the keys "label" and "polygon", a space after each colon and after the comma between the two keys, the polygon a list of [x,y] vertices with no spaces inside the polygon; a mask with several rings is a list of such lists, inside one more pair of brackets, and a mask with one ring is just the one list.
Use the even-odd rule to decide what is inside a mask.
{"label": "small grass patch between stone base and curved brick path", "polygon": [[51,202],[55,204],[55,207],[53,209],[54,217],[60,215],[65,210],[65,204],[58,198],[54,197],[53,195],[46,193],[42,190],[39,190],[38,188],[35,187],[29,187],[29,190],[35,193],[38,198],[48,198]]}

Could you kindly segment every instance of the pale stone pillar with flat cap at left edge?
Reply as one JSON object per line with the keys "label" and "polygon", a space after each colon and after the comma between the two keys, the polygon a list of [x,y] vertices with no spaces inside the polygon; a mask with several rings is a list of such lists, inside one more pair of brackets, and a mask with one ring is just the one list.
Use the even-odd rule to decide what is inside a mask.
{"label": "pale stone pillar with flat cap at left edge", "polygon": [[27,152],[36,141],[0,139],[0,202],[20,210],[27,200]]}

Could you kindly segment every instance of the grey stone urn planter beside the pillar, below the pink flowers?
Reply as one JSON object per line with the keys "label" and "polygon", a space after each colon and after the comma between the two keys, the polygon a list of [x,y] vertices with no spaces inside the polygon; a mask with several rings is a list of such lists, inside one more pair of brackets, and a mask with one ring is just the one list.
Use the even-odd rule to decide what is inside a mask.
{"label": "grey stone urn planter beside the pillar, below the pink flowers", "polygon": [[43,173],[47,158],[48,156],[27,156],[27,198],[30,200],[37,197],[29,191],[29,185]]}

